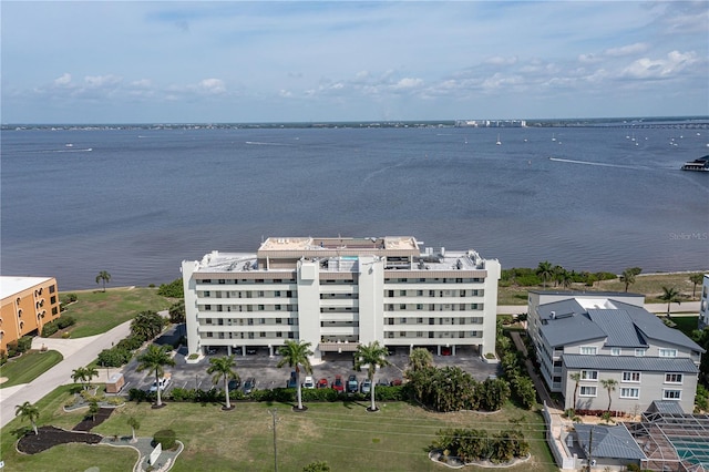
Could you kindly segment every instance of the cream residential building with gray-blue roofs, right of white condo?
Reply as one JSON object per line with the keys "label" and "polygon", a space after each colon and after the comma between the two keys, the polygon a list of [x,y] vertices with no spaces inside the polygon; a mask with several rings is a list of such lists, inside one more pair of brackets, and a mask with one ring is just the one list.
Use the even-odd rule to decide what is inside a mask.
{"label": "cream residential building with gray-blue roofs, right of white condo", "polygon": [[705,350],[643,306],[633,294],[530,293],[530,337],[564,408],[638,413],[670,400],[692,411]]}

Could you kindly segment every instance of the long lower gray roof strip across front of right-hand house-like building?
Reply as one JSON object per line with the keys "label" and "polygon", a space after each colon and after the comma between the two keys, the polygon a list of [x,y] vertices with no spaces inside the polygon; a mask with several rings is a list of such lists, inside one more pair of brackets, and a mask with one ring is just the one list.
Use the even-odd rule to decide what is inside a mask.
{"label": "long lower gray roof strip across front of right-hand house-like building", "polygon": [[583,356],[563,357],[567,369],[637,370],[646,372],[697,373],[699,369],[688,358],[633,357],[633,356]]}

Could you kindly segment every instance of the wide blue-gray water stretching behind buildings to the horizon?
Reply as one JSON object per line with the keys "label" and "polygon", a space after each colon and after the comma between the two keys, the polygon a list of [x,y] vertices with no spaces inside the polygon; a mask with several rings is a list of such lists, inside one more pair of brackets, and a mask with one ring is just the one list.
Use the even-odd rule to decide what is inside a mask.
{"label": "wide blue-gray water stretching behind buildings to the horizon", "polygon": [[709,153],[700,133],[2,131],[0,271],[61,290],[96,287],[100,270],[161,284],[214,249],[338,234],[413,235],[506,268],[706,269],[709,175],[679,171]]}

